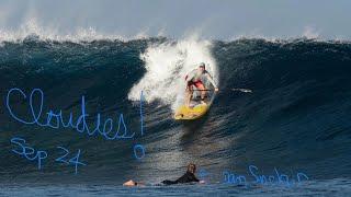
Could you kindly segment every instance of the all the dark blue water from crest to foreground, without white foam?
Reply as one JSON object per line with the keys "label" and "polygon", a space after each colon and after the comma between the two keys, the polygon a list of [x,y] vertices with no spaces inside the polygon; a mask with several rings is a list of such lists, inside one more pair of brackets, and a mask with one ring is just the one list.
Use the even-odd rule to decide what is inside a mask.
{"label": "all the dark blue water from crest to foreground, without white foam", "polygon": [[[177,40],[71,43],[29,37],[2,43],[1,194],[348,196],[351,44],[310,39],[214,40],[211,55],[216,61],[220,91],[208,114],[196,121],[178,123],[172,119],[169,103],[145,102],[143,134],[140,102],[128,100],[128,94],[147,73],[140,54],[150,46],[168,43],[176,45]],[[29,107],[30,94],[39,89],[44,104],[38,121],[47,120],[46,113],[52,109],[56,114],[61,111],[65,121],[72,113],[72,121],[77,123],[83,95],[91,130],[98,115],[102,123],[112,118],[117,127],[123,114],[126,134],[134,136],[107,140],[102,131],[89,135],[73,127],[23,124],[11,116],[7,106],[7,95],[14,88],[26,94],[24,97],[16,91],[10,96],[13,113],[22,119],[30,121],[33,114]],[[250,89],[252,93],[231,91],[235,88]],[[38,102],[39,97],[34,96],[36,109]],[[44,154],[30,161],[14,153],[12,150],[23,150],[11,142],[14,137],[25,140],[27,152],[33,148],[35,153],[29,158],[37,151],[47,154],[39,170],[37,161]],[[140,160],[134,154],[136,144],[145,148]],[[78,150],[79,159],[69,162]],[[65,152],[66,163],[57,161]],[[136,154],[140,155],[140,150]],[[77,161],[84,165],[78,164],[76,174]],[[157,186],[162,179],[182,175],[189,162],[204,172],[202,176],[207,184]],[[253,173],[250,165],[256,166]],[[225,183],[228,181],[225,172],[244,176],[245,185]],[[297,183],[298,173],[308,176],[308,181],[302,178]],[[290,181],[280,181],[282,174]],[[263,182],[263,175],[272,176],[273,184]],[[131,178],[150,185],[122,187]]]}

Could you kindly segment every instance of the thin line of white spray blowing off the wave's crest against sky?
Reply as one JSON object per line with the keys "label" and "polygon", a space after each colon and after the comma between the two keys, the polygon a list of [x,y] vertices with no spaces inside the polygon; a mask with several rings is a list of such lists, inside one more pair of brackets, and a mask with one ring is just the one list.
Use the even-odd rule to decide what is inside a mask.
{"label": "thin line of white spray blowing off the wave's crest against sky", "polygon": [[[3,9],[5,10],[5,9]],[[0,11],[3,11],[0,10]],[[0,13],[0,22],[5,20],[7,14]],[[1,24],[1,23],[0,23]],[[202,35],[201,30],[191,30],[189,34],[191,34],[190,37],[194,37],[192,35],[199,34],[197,38],[206,39],[207,37],[204,37]],[[161,36],[161,37],[168,37],[171,38],[173,36],[167,35],[166,27],[162,27],[159,30],[159,32],[155,34],[149,33],[148,27],[140,28],[139,32],[136,32],[135,35],[123,35],[118,32],[103,32],[101,30],[98,30],[93,26],[88,27],[81,27],[77,26],[72,30],[66,30],[59,27],[59,25],[43,25],[35,16],[29,16],[27,20],[25,20],[22,25],[20,25],[16,28],[5,28],[3,26],[0,26],[0,45],[3,42],[22,42],[29,36],[37,36],[41,40],[55,40],[55,42],[72,42],[72,43],[81,43],[81,42],[93,42],[93,40],[122,40],[122,42],[128,42],[133,39],[145,39],[149,37],[155,36]],[[188,34],[184,34],[188,35]],[[260,34],[258,30],[254,30],[253,32],[247,32],[242,34],[234,34],[233,36],[229,36],[228,38],[222,39],[223,42],[234,42],[238,39],[264,39],[267,42],[271,43],[290,43],[294,42],[295,39],[299,38],[307,38],[307,39],[314,39],[316,42],[342,42],[342,43],[350,43],[350,39],[348,39],[347,36],[338,35],[332,36],[331,39],[324,38],[319,31],[317,31],[313,26],[305,26],[303,32],[299,35],[296,36],[267,36],[263,34]]]}

